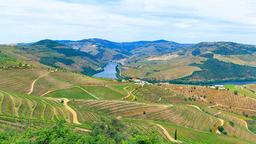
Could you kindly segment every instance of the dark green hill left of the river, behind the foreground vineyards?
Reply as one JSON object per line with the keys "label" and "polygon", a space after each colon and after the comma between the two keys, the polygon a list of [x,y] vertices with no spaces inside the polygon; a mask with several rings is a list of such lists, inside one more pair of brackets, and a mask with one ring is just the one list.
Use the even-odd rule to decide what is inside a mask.
{"label": "dark green hill left of the river, behind the foreground vineyards", "polygon": [[22,64],[79,71],[87,76],[99,73],[106,65],[106,62],[89,53],[79,52],[52,40],[41,40],[30,46],[2,45],[0,50]]}

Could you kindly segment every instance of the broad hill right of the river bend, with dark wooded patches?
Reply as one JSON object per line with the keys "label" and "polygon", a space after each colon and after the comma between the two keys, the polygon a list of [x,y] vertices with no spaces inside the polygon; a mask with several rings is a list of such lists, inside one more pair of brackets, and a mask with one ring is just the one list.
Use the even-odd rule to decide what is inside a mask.
{"label": "broad hill right of the river bend, with dark wooded patches", "polygon": [[[170,82],[255,79],[256,46],[232,42],[199,43],[119,67],[126,77]],[[121,69],[121,67],[128,67]]]}

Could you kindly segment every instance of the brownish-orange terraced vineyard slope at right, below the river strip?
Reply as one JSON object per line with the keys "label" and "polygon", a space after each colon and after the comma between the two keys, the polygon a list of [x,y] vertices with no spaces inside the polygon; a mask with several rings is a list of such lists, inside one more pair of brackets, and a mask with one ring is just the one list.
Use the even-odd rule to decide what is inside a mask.
{"label": "brownish-orange terraced vineyard slope at right, below the river strip", "polygon": [[233,91],[207,88],[206,86],[170,85],[162,87],[184,95],[186,98],[197,98],[196,102],[207,106],[213,106],[213,103],[219,104],[221,106],[218,108],[227,112],[243,115],[243,112],[246,111],[249,116],[256,115],[256,100],[235,94]]}

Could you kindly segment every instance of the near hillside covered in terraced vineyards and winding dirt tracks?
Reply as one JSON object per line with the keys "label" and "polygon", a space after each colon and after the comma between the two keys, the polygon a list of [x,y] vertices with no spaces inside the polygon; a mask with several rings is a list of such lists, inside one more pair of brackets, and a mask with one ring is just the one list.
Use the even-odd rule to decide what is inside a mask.
{"label": "near hillside covered in terraced vineyards and winding dirt tracks", "polygon": [[[74,133],[84,136],[91,136],[92,133],[88,131],[99,134],[97,128],[103,125],[103,130],[100,131],[105,131],[102,134],[108,137],[108,134],[105,135],[108,130],[116,130],[112,129],[114,125],[111,124],[124,122],[121,128],[124,128],[125,132],[117,134],[118,136],[136,133],[142,134],[140,136],[159,137],[163,143],[169,143],[177,142],[174,140],[174,131],[177,130],[179,142],[255,143],[255,134],[251,133],[247,129],[247,123],[240,119],[249,120],[250,125],[254,125],[254,121],[233,114],[236,108],[254,110],[255,101],[242,95],[234,95],[232,91],[200,86],[184,86],[183,89],[178,85],[139,86],[133,83],[107,82],[48,68],[7,69],[0,71],[1,134],[5,134],[10,125],[23,131],[27,130],[27,125],[37,131],[64,122],[64,125],[75,130]],[[253,88],[251,85],[248,87]],[[191,89],[192,92],[189,91]],[[215,96],[218,93],[223,96]],[[206,101],[221,104],[222,107],[195,100],[198,94],[206,95]],[[193,101],[187,100],[191,95],[197,96],[193,97]],[[225,101],[225,98],[229,98],[228,101]],[[229,102],[232,108],[227,109],[225,106]],[[189,104],[198,104],[200,107]],[[233,113],[223,110],[233,110]],[[236,112],[240,114],[239,110]],[[229,121],[233,121],[234,126],[230,125]],[[224,131],[218,131],[219,126],[224,127],[227,135]],[[117,131],[120,131],[120,128],[117,128]]]}

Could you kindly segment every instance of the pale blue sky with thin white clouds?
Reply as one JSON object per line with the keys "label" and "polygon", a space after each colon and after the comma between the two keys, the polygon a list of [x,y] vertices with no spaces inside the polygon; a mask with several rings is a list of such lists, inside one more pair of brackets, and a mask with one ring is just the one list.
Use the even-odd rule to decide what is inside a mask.
{"label": "pale blue sky with thin white clouds", "polygon": [[255,0],[0,0],[0,44],[115,42],[256,44]]}

